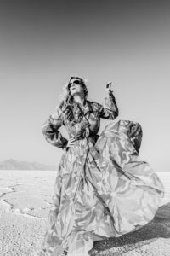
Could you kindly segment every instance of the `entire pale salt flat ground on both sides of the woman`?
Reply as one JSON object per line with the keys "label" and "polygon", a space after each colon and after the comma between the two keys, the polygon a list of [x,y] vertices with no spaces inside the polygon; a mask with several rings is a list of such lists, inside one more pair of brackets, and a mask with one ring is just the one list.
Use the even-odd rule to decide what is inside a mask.
{"label": "entire pale salt flat ground on both sides of the woman", "polygon": [[[165,186],[153,223],[121,239],[96,243],[91,255],[170,255],[170,172],[159,172]],[[0,171],[1,256],[36,256],[42,249],[54,191],[54,171]]]}

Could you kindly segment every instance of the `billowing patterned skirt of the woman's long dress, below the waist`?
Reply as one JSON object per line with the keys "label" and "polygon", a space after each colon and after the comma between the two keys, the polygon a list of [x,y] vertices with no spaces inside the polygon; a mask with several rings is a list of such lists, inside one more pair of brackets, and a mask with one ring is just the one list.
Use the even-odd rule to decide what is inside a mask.
{"label": "billowing patterned skirt of the woman's long dress, below the waist", "polygon": [[[45,127],[48,142],[54,142],[47,136],[49,125]],[[89,255],[94,241],[122,236],[154,218],[163,186],[139,158],[141,139],[138,123],[114,120],[97,142],[83,133],[65,150],[48,216],[45,255],[60,256],[64,249],[69,256]]]}

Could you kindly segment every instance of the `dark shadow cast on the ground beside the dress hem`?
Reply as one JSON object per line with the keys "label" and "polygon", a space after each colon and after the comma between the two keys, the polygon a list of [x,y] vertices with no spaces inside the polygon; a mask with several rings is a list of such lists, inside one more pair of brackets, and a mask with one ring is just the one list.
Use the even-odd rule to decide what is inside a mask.
{"label": "dark shadow cast on the ground beside the dress hem", "polygon": [[[106,255],[105,250],[114,249],[114,255],[120,255],[131,251],[157,238],[170,238],[170,203],[160,207],[155,218],[140,230],[128,233],[118,238],[109,238],[103,241],[95,241],[91,255]],[[102,252],[103,253],[100,253]],[[107,254],[109,255],[109,254]]]}

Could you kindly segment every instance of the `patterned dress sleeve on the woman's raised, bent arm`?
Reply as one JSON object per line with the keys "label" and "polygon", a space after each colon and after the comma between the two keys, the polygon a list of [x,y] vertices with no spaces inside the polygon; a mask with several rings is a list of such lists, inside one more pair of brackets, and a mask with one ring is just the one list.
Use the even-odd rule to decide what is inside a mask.
{"label": "patterned dress sleeve on the woman's raised, bent arm", "polygon": [[102,119],[116,119],[118,116],[118,108],[116,99],[112,91],[105,97],[104,104],[99,104],[99,117]]}

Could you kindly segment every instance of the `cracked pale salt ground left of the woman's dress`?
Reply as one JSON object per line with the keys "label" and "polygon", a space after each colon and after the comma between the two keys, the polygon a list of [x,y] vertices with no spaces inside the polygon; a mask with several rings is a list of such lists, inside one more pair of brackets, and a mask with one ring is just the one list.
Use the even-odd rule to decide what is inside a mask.
{"label": "cracked pale salt ground left of the woman's dress", "polygon": [[0,171],[0,256],[37,256],[56,172]]}

